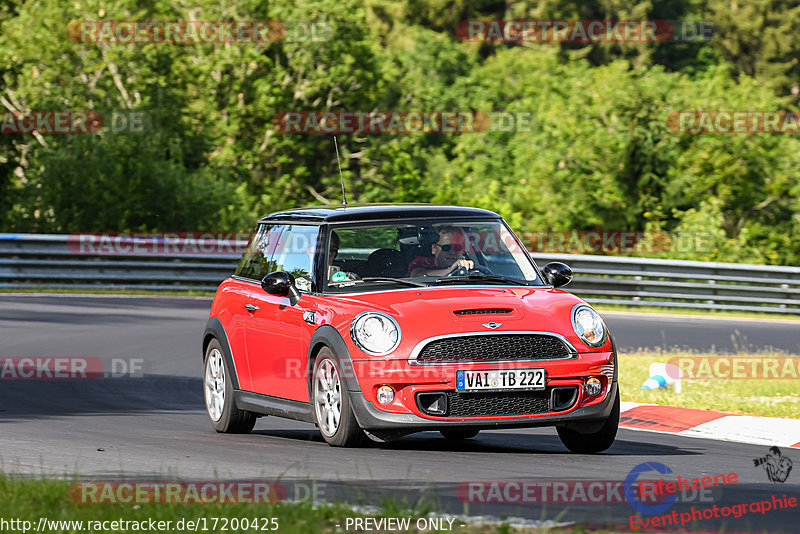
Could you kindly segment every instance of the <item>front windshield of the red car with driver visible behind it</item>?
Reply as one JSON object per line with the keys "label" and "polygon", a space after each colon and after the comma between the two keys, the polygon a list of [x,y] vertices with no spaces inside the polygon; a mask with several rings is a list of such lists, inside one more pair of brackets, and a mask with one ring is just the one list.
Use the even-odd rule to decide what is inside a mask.
{"label": "front windshield of the red car with driver visible behind it", "polygon": [[334,292],[456,284],[543,285],[500,220],[332,226],[326,288]]}

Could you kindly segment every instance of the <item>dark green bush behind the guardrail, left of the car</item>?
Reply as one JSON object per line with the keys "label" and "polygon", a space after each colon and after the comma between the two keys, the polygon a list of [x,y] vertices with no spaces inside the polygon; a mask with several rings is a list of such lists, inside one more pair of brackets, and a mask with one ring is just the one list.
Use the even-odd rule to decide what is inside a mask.
{"label": "dark green bush behind the guardrail, left of the car", "polygon": [[[217,231],[246,227],[255,214],[230,171],[187,168],[180,143],[163,132],[76,135],[38,154],[36,173],[18,192],[16,230]],[[31,216],[33,215],[33,216]]]}

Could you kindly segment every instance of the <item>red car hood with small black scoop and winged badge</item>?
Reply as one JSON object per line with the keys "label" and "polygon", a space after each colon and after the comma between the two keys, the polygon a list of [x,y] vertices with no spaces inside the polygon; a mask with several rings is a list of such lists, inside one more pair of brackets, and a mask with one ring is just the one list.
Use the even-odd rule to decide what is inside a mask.
{"label": "red car hood with small black scoop and winged badge", "polygon": [[439,335],[466,332],[537,331],[566,337],[579,352],[592,348],[572,328],[572,309],[585,302],[560,289],[509,286],[409,288],[331,298],[329,324],[348,332],[358,313],[379,311],[394,318],[402,332],[400,353]]}

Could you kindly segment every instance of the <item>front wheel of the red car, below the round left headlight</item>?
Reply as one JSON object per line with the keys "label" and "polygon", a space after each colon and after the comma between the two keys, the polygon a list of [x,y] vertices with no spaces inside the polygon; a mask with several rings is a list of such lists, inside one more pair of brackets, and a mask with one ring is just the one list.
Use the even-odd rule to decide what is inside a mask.
{"label": "front wheel of the red car, below the round left headlight", "polygon": [[[350,407],[333,351],[323,347],[311,375],[311,407],[322,439],[333,447],[360,447],[367,441]],[[338,415],[338,417],[337,417]]]}

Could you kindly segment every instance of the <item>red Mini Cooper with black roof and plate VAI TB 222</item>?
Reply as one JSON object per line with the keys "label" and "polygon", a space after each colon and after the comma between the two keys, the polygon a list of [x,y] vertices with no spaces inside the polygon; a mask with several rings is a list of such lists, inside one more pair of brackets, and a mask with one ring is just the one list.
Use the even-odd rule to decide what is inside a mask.
{"label": "red Mini Cooper with black roof and plate VAI TB 222", "polygon": [[598,313],[556,289],[491,211],[301,208],[259,221],[203,335],[218,432],[276,415],[330,445],[436,430],[555,426],[573,452],[619,423],[616,350]]}

